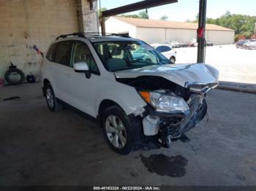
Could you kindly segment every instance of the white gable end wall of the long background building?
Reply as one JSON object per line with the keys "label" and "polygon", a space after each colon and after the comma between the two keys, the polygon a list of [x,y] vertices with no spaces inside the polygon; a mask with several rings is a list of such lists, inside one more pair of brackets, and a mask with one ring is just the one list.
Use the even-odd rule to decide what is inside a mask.
{"label": "white gable end wall of the long background building", "polygon": [[129,25],[128,23],[124,23],[121,20],[117,20],[114,17],[109,17],[108,20],[105,21],[105,31],[106,33],[127,33],[129,32],[129,36],[136,38],[136,27]]}

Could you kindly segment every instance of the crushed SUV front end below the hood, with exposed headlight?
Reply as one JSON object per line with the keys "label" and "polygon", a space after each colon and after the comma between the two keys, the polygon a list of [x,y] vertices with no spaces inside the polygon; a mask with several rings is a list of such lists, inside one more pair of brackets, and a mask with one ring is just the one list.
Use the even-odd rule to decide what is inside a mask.
{"label": "crushed SUV front end below the hood, with exposed headlight", "polygon": [[[133,113],[141,116],[144,135],[157,138],[162,147],[170,147],[173,140],[179,139],[203,120],[207,112],[206,93],[218,85],[218,82],[194,82],[181,87],[162,77],[125,80],[148,103]],[[124,82],[123,79],[118,81]]]}

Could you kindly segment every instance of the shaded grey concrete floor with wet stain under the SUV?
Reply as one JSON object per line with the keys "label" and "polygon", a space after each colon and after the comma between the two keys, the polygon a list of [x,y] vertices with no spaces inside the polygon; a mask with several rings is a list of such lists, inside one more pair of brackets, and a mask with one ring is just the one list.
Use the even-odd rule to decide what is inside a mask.
{"label": "shaded grey concrete floor with wet stain under the SUV", "polygon": [[[256,185],[255,100],[214,90],[209,121],[187,133],[191,141],[122,156],[95,122],[50,112],[39,84],[1,87],[0,185]],[[150,163],[156,156],[162,160]],[[158,163],[165,168],[154,169]]]}

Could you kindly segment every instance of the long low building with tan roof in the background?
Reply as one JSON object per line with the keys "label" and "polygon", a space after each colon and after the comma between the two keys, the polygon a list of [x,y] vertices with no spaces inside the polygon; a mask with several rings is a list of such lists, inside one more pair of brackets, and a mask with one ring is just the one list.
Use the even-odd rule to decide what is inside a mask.
{"label": "long low building with tan roof in the background", "polygon": [[[167,20],[148,20],[130,17],[110,17],[105,22],[107,33],[129,34],[148,43],[188,42],[197,37],[197,23]],[[232,44],[235,31],[222,26],[206,24],[206,40],[214,44]]]}

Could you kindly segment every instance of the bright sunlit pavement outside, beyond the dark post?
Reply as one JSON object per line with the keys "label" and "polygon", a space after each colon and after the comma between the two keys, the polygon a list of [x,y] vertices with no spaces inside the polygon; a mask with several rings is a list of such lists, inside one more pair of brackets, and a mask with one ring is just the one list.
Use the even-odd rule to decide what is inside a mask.
{"label": "bright sunlit pavement outside, beyond the dark post", "polygon": [[[195,63],[197,47],[177,48],[177,63]],[[219,69],[220,80],[256,84],[256,50],[234,44],[206,47],[206,63]]]}

